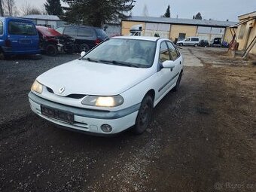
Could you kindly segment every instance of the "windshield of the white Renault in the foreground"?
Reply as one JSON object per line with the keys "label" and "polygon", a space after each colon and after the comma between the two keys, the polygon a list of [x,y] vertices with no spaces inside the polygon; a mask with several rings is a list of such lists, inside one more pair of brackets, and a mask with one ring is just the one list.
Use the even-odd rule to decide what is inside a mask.
{"label": "windshield of the white Renault in the foreground", "polygon": [[154,41],[111,38],[91,50],[83,59],[111,65],[149,68],[153,65]]}

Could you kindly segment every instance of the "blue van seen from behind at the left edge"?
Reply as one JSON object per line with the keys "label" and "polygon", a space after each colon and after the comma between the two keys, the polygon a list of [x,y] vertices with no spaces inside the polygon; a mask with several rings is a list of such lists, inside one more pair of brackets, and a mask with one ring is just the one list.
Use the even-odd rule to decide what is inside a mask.
{"label": "blue van seen from behind at the left edge", "polygon": [[0,54],[4,57],[40,53],[39,36],[31,20],[0,17]]}

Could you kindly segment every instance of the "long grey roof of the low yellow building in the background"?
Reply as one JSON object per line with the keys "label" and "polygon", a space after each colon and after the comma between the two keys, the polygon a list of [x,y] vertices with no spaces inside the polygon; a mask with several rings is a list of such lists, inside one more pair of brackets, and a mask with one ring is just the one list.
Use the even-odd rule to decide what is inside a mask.
{"label": "long grey roof of the low yellow building in the background", "polygon": [[236,22],[232,21],[219,21],[219,20],[193,20],[193,19],[180,19],[180,18],[168,18],[168,17],[140,17],[133,16],[128,18],[130,21],[140,21],[148,23],[169,23],[169,24],[181,24],[191,26],[233,26]]}

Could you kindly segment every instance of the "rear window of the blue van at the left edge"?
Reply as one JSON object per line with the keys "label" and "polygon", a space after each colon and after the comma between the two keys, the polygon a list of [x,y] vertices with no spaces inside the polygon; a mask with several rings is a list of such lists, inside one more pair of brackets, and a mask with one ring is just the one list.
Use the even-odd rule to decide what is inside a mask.
{"label": "rear window of the blue van at the left edge", "polygon": [[11,35],[37,35],[35,26],[23,21],[10,21],[8,23],[8,33]]}

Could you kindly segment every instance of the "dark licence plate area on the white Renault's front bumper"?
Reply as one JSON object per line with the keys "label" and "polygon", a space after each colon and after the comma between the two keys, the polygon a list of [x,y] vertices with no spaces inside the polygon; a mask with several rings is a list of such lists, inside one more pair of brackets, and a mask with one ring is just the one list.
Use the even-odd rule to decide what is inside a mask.
{"label": "dark licence plate area on the white Renault's front bumper", "polygon": [[68,111],[61,111],[56,108],[49,108],[47,106],[41,105],[41,114],[57,120],[62,120],[66,123],[74,123],[74,114]]}

